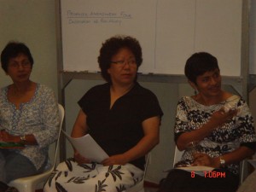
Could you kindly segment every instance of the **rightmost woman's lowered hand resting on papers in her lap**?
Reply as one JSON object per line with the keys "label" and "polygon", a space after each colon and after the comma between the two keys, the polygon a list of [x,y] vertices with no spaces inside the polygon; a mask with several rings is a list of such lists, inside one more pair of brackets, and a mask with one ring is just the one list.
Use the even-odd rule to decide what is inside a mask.
{"label": "rightmost woman's lowered hand resting on papers in her lap", "polygon": [[192,166],[211,166],[219,167],[219,158],[211,158],[208,154],[195,153]]}

